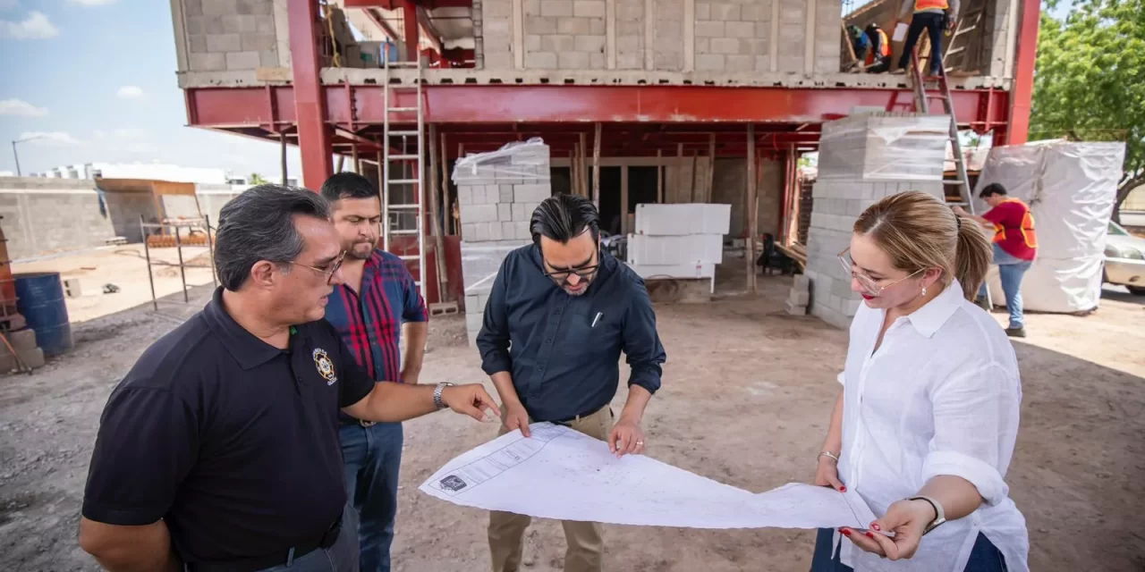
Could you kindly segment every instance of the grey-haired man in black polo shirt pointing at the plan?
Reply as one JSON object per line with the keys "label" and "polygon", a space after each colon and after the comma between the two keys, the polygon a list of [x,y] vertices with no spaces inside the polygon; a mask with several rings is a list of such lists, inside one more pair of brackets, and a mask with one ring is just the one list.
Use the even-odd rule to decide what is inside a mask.
{"label": "grey-haired man in black polo shirt pointing at the plan", "polygon": [[222,287],[112,391],[80,546],[117,571],[357,571],[338,411],[483,420],[479,384],[370,379],[325,320],[341,241],[319,194],[255,186],[220,213]]}

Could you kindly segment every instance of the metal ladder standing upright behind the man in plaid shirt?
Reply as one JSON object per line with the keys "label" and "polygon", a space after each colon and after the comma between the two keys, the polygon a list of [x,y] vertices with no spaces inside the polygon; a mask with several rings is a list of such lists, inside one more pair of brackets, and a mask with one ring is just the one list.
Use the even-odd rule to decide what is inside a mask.
{"label": "metal ladder standing upright behind the man in plaid shirt", "polygon": [[[425,233],[425,190],[421,185],[423,173],[425,167],[425,97],[421,89],[421,57],[420,54],[416,62],[390,62],[389,51],[385,53],[385,82],[382,87],[381,97],[382,103],[386,109],[386,114],[384,116],[381,122],[382,138],[381,138],[381,161],[382,161],[382,180],[381,180],[381,224],[382,224],[382,248],[389,252],[390,245],[394,243],[394,237],[398,236],[412,236],[417,235],[417,254],[406,254],[409,248],[404,249],[403,254],[397,255],[406,265],[410,262],[417,261],[418,271],[414,275],[417,277],[418,292],[421,294],[421,299],[427,299],[426,295],[426,233]],[[416,67],[418,71],[416,84],[413,87],[403,86],[401,84],[390,82],[390,70],[393,69],[411,69]],[[393,102],[397,101],[398,92],[410,92],[413,90],[417,97],[417,106],[413,108],[395,108],[392,106]],[[392,129],[390,128],[390,116],[405,117],[410,113],[417,113],[417,129]],[[396,121],[398,124],[409,124],[409,120]],[[410,152],[411,148],[417,149],[417,152]],[[392,153],[392,149],[397,149],[398,152]],[[409,174],[409,168],[403,168],[402,174],[395,178],[393,173],[392,162],[401,162],[403,166],[409,167],[412,162],[413,173]],[[408,200],[405,197],[412,196],[411,202],[392,202],[394,193],[392,190],[394,188],[404,190],[410,189],[412,192],[402,192],[402,200]],[[412,214],[414,217],[413,229],[395,229],[394,221],[390,221],[390,213],[395,213],[397,217],[402,219],[403,215]],[[413,273],[412,271],[410,273]]]}

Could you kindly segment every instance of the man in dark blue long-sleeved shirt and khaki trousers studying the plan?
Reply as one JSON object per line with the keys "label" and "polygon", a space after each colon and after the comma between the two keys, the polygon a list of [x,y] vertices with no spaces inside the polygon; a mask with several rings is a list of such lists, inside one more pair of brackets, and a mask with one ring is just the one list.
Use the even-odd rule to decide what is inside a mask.
{"label": "man in dark blue long-sleeved shirt and khaki trousers studying the plan", "polygon": [[[551,421],[607,440],[617,456],[642,453],[640,420],[665,360],[643,280],[601,252],[597,207],[586,198],[545,199],[530,229],[534,244],[502,263],[477,334],[482,368],[504,406],[502,434],[520,429],[528,437],[530,422]],[[621,351],[632,375],[614,424]],[[490,515],[493,572],[520,569],[529,523],[524,515]],[[599,571],[600,525],[563,525],[566,572]]]}

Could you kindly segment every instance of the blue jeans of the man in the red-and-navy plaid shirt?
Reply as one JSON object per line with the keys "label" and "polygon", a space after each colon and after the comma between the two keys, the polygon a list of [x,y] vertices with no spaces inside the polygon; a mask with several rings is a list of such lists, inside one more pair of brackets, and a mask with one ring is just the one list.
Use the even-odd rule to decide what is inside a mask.
{"label": "blue jeans of the man in the red-and-navy plaid shirt", "polygon": [[358,516],[362,572],[389,572],[389,546],[397,516],[397,472],[402,466],[402,424],[362,427],[342,423],[346,496]]}

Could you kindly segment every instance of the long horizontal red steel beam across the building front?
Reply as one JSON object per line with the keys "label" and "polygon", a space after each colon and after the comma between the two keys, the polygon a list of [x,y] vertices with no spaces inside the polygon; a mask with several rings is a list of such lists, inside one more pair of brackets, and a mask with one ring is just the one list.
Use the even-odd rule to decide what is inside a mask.
{"label": "long horizontal red steel beam across the building front", "polygon": [[[294,3],[305,0],[291,0]],[[292,38],[294,38],[292,35]],[[292,39],[292,42],[294,40]],[[295,51],[292,48],[292,51]],[[298,65],[295,74],[299,73]],[[297,84],[297,80],[295,80]],[[298,86],[301,87],[301,86]],[[256,127],[291,124],[295,88],[204,87],[187,89],[188,117],[196,127]],[[381,86],[323,86],[329,125],[356,128],[380,125],[386,110]],[[859,105],[885,108],[897,89],[711,86],[425,86],[426,121],[436,124],[571,124],[581,129],[595,121],[630,124],[820,124],[845,117]],[[1002,90],[955,89],[951,94],[962,125],[985,129],[1004,127],[1010,94]],[[398,92],[393,106],[414,106],[413,92]],[[269,101],[278,103],[276,117]],[[901,97],[900,97],[901,98]],[[985,104],[989,103],[989,105]],[[301,108],[298,108],[301,109]],[[301,114],[299,114],[299,118]],[[392,118],[412,122],[406,113]],[[714,128],[716,126],[711,126]],[[303,135],[305,137],[305,135]]]}

